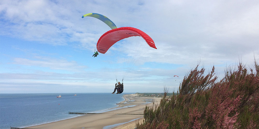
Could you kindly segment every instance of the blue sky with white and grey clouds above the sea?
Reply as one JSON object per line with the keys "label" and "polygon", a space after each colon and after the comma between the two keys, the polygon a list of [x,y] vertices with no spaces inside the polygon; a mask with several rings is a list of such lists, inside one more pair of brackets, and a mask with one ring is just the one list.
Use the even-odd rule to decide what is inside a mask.
{"label": "blue sky with white and grey clouds above the sea", "polygon": [[[157,49],[131,37],[92,57],[111,28],[87,13],[142,30]],[[220,79],[239,62],[254,68],[258,14],[257,0],[1,0],[0,93],[109,93],[122,76],[124,92],[176,92],[198,62]]]}

